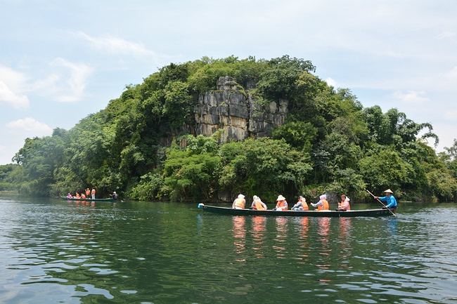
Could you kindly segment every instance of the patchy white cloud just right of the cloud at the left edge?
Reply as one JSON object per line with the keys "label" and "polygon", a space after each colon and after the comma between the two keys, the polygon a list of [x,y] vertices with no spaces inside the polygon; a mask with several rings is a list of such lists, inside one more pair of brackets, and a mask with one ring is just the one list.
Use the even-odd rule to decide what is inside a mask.
{"label": "patchy white cloud just right of the cloud at the left edge", "polygon": [[60,102],[80,100],[84,95],[87,79],[94,69],[63,58],[56,58],[49,65],[51,73],[45,79],[35,81],[34,91]]}

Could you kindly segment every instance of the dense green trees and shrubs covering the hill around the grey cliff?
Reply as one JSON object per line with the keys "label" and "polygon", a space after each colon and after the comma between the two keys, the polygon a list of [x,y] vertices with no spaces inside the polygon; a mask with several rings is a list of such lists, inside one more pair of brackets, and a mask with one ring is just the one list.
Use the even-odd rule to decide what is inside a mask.
{"label": "dense green trees and shrubs covering the hill around the grey cliff", "polygon": [[[363,107],[349,88],[328,86],[315,71],[288,55],[170,63],[70,130],[26,138],[13,164],[0,166],[0,191],[60,197],[95,187],[100,197],[116,191],[124,199],[205,202],[283,194],[291,204],[323,193],[371,201],[366,189],[390,188],[399,201],[457,200],[456,140],[437,154],[428,145],[439,140],[431,124]],[[220,77],[231,77],[231,88],[218,88]],[[243,140],[221,121],[199,133],[202,96],[233,90],[249,110],[283,106],[284,121],[262,136],[247,129]],[[239,119],[230,105],[219,108]],[[256,113],[271,124],[269,113]]]}

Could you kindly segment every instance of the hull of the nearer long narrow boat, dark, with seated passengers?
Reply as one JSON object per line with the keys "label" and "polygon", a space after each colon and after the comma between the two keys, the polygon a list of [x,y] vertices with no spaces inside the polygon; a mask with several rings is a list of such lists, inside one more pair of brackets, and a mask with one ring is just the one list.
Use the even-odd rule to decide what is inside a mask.
{"label": "hull of the nearer long narrow boat, dark, with seated passengers", "polygon": [[389,209],[365,209],[365,210],[350,210],[350,211],[276,211],[255,209],[232,209],[226,207],[207,206],[199,204],[198,208],[211,213],[227,214],[231,216],[308,216],[314,218],[353,218],[359,216],[378,217],[392,216],[393,213]]}

